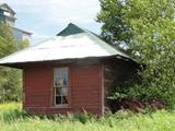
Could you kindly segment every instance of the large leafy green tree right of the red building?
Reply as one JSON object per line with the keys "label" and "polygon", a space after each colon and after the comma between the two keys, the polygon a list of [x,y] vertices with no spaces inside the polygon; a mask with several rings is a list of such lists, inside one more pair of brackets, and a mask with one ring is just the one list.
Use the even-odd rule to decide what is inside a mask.
{"label": "large leafy green tree right of the red building", "polygon": [[[175,103],[175,1],[101,0],[97,21],[102,36],[129,48],[147,68],[139,72],[141,83],[128,87],[132,97],[158,97],[168,106]],[[124,29],[122,29],[124,28]]]}

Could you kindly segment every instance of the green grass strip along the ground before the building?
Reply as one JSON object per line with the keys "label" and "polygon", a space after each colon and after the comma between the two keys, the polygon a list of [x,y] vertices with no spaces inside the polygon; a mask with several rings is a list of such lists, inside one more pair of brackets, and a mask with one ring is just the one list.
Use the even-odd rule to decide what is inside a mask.
{"label": "green grass strip along the ground before the building", "polygon": [[94,118],[88,115],[36,117],[21,110],[21,104],[0,104],[0,131],[175,131],[175,112],[158,110],[133,114],[120,110]]}

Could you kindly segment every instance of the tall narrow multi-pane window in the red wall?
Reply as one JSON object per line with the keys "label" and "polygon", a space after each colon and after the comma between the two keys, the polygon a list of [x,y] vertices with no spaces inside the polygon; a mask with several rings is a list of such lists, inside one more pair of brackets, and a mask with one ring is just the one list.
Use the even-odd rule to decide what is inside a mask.
{"label": "tall narrow multi-pane window in the red wall", "polygon": [[54,70],[54,94],[55,105],[68,104],[68,68]]}

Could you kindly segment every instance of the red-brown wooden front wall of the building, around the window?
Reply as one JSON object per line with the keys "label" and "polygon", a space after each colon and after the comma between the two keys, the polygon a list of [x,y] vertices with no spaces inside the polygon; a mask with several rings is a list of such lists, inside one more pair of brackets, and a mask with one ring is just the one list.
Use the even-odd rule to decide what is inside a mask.
{"label": "red-brown wooden front wall of the building, around the window", "polygon": [[103,114],[103,66],[71,64],[69,68],[69,107],[54,106],[52,83],[54,68],[60,66],[37,66],[24,69],[23,107],[33,114],[66,114],[90,111]]}

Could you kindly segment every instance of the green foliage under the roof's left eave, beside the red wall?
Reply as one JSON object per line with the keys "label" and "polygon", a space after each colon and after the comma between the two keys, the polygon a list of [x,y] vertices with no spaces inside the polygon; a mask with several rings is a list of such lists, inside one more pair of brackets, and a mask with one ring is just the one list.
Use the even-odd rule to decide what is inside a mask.
{"label": "green foliage under the roof's left eave, beside the red wall", "polygon": [[0,67],[0,102],[21,99],[22,72],[16,69]]}

